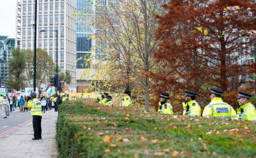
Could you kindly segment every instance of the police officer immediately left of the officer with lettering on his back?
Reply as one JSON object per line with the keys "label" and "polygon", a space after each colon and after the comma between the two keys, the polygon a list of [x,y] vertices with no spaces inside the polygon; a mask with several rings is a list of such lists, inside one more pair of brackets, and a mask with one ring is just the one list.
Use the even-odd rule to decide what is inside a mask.
{"label": "police officer immediately left of the officer with lettering on his back", "polygon": [[201,107],[195,101],[197,92],[186,90],[185,102],[183,102],[183,116],[201,116]]}

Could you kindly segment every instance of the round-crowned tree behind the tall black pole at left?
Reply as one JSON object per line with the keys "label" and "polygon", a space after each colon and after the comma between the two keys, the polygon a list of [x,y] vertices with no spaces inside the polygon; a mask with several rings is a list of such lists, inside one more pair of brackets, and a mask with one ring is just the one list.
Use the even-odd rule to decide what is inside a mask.
{"label": "round-crowned tree behind the tall black pole at left", "polygon": [[[26,86],[33,86],[33,64],[34,52],[26,50]],[[54,63],[51,56],[41,48],[36,50],[36,87],[40,88],[43,84],[49,82],[49,78],[53,76]]]}

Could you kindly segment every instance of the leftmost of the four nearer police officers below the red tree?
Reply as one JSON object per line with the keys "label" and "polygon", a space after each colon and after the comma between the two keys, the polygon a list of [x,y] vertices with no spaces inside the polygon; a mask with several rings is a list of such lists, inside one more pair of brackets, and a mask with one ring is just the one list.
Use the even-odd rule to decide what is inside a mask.
{"label": "leftmost of the four nearer police officers below the red tree", "polygon": [[158,112],[162,114],[173,114],[172,105],[168,102],[170,96],[167,92],[162,92],[160,94],[160,102],[158,105]]}

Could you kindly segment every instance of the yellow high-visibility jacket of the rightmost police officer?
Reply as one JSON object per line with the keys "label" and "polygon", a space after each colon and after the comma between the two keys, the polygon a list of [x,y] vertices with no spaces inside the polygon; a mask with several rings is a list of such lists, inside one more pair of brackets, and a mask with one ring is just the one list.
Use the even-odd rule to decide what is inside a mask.
{"label": "yellow high-visibility jacket of the rightmost police officer", "polygon": [[236,120],[256,122],[256,109],[251,102],[240,106],[237,109],[237,115]]}

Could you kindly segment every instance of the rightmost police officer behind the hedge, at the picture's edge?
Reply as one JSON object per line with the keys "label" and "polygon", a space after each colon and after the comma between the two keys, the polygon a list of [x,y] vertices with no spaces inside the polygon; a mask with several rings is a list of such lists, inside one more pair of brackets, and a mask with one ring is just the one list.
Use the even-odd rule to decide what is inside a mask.
{"label": "rightmost police officer behind the hedge, at the picture's edge", "polygon": [[256,109],[249,101],[250,98],[251,94],[238,92],[237,102],[239,104],[239,108],[237,109],[238,116],[236,117],[236,120],[256,122]]}

